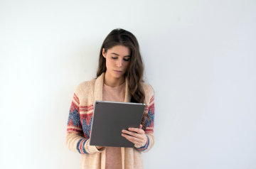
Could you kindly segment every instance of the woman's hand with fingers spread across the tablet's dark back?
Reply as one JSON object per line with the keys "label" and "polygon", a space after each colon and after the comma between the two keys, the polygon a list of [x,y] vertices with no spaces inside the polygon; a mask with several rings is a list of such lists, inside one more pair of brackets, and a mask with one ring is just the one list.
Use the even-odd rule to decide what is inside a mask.
{"label": "woman's hand with fingers spread across the tablet's dark back", "polygon": [[138,129],[138,128],[129,128],[128,130],[129,131],[122,130],[122,136],[127,138],[127,140],[129,140],[132,143],[137,144],[137,145],[141,145],[144,142],[144,138],[146,136],[145,136],[145,131],[142,130],[142,124],[140,125],[140,129]]}

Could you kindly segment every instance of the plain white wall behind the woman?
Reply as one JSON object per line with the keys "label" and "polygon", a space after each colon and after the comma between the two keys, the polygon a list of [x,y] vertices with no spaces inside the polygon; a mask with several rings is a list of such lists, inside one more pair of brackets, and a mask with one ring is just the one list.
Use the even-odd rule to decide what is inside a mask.
{"label": "plain white wall behind the woman", "polygon": [[156,91],[145,168],[256,168],[256,1],[0,1],[0,168],[79,168],[75,87],[114,28]]}

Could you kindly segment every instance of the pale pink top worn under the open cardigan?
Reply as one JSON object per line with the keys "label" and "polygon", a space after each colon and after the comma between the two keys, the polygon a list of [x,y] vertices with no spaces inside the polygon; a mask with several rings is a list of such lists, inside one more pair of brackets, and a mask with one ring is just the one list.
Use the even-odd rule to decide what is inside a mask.
{"label": "pale pink top worn under the open cardigan", "polygon": [[[111,102],[124,102],[125,82],[117,87],[110,87],[103,83],[102,100]],[[106,169],[122,168],[121,148],[106,147]]]}

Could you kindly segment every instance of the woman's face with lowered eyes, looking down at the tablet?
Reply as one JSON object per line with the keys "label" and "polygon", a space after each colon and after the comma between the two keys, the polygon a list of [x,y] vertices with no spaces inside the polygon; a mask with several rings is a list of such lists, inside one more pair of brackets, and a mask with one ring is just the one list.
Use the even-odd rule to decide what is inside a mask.
{"label": "woman's face with lowered eyes, looking down at the tablet", "polygon": [[131,59],[131,51],[129,48],[123,45],[115,45],[107,50],[107,53],[105,53],[105,48],[103,48],[102,55],[106,58],[106,74],[108,73],[112,75],[112,77],[119,78],[127,72]]}

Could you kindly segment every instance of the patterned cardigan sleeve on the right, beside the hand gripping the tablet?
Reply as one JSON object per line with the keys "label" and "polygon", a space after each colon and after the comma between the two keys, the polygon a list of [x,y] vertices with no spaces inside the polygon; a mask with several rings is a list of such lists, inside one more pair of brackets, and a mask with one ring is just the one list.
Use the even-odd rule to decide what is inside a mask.
{"label": "patterned cardigan sleeve on the right, beside the hand gripping the tablet", "polygon": [[142,151],[146,153],[154,146],[154,93],[152,92],[151,97],[149,101],[149,107],[147,109],[147,114],[149,114],[149,118],[147,119],[145,116],[145,123],[146,123],[146,129],[145,129],[145,139],[144,142],[141,145],[135,144],[134,148],[137,149],[137,151]]}

